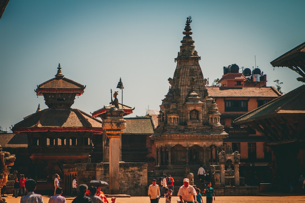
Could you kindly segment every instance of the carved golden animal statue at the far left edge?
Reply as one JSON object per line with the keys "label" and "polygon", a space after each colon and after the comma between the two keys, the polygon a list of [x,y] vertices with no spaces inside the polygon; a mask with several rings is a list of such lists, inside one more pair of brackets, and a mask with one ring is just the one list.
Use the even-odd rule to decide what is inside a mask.
{"label": "carved golden animal statue at the far left edge", "polygon": [[[0,192],[2,187],[7,182],[7,177],[9,176],[9,167],[13,166],[14,161],[16,159],[15,155],[11,155],[9,152],[3,152],[2,148],[0,146]],[[1,198],[0,196],[0,202],[5,202],[4,198]]]}

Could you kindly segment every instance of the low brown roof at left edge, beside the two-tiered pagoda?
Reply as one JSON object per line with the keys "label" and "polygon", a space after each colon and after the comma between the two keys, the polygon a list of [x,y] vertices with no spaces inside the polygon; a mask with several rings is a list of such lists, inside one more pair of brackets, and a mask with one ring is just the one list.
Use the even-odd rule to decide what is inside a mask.
{"label": "low brown roof at left edge, beside the two-tiered pagoda", "polygon": [[0,134],[0,145],[2,148],[27,148],[27,135]]}

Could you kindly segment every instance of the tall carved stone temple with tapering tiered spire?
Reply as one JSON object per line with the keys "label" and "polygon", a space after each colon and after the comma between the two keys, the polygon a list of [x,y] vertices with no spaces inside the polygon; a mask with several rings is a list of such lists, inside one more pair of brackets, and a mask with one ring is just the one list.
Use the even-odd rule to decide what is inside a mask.
{"label": "tall carved stone temple with tapering tiered spire", "polygon": [[[156,144],[157,166],[167,168],[218,162],[218,149],[228,134],[220,113],[209,97],[187,18],[174,77],[160,105],[159,126],[151,136]],[[177,168],[177,167],[176,167]]]}

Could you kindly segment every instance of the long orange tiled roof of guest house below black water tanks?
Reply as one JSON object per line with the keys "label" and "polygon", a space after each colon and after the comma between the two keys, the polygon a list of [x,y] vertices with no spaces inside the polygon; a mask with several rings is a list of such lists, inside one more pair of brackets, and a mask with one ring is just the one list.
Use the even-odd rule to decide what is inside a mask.
{"label": "long orange tiled roof of guest house below black water tanks", "polygon": [[212,97],[278,97],[274,87],[206,87]]}

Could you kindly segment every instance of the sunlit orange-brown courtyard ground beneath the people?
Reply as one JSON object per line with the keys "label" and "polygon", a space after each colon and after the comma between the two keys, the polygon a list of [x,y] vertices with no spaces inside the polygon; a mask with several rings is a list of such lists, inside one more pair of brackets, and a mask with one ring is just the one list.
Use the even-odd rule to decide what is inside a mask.
{"label": "sunlit orange-brown courtyard ground beneath the people", "polygon": [[[50,196],[43,196],[44,202],[48,203]],[[20,197],[14,198],[12,195],[8,195],[6,202],[8,203],[20,203]],[[67,203],[71,203],[74,198],[66,197]],[[172,203],[177,203],[178,197],[172,197]],[[108,198],[109,203],[110,198]],[[305,195],[302,196],[219,196],[216,197],[215,202],[235,202],[235,203],[294,203],[305,201]],[[149,197],[130,197],[130,198],[117,198],[117,203],[150,203]],[[160,198],[160,203],[165,203],[165,198]],[[205,203],[205,197],[203,197],[203,203]]]}

